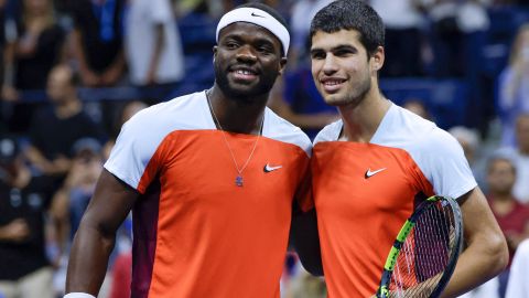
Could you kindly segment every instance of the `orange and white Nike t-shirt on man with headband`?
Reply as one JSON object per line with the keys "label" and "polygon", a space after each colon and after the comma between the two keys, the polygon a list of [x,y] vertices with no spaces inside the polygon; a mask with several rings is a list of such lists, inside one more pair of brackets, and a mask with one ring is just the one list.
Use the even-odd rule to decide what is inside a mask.
{"label": "orange and white Nike t-shirt on man with headband", "polygon": [[[226,138],[242,167],[257,136]],[[309,138],[267,108],[237,187],[204,93],[137,114],[105,164],[142,193],[132,214],[132,296],[279,297],[292,200],[311,207],[300,193],[310,152]]]}

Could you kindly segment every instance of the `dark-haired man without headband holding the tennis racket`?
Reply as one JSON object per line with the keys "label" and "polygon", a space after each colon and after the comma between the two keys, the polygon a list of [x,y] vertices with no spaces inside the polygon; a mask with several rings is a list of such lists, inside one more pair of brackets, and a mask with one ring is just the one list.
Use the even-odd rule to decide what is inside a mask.
{"label": "dark-haired man without headband holding the tennis racket", "polygon": [[442,194],[464,219],[466,248],[443,292],[453,297],[505,267],[506,242],[456,140],[380,93],[384,34],[364,1],[335,1],[311,24],[313,78],[342,116],[316,136],[311,160],[328,296],[373,296],[414,205]]}

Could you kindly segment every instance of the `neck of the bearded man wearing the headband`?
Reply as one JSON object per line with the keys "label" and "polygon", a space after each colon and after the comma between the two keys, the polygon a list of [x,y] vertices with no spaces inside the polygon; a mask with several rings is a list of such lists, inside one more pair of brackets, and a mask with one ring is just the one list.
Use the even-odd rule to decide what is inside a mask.
{"label": "neck of the bearded man wearing the headband", "polygon": [[213,109],[212,116],[218,120],[217,127],[223,130],[259,135],[268,94],[256,98],[228,98],[217,86],[206,91],[207,100]]}

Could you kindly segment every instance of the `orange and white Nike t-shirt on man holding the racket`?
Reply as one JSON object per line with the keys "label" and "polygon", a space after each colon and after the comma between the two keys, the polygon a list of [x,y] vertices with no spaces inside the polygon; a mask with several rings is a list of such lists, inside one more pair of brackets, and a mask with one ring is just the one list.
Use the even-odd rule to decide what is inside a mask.
{"label": "orange and white Nike t-shirt on man holding the racket", "polygon": [[392,105],[368,143],[336,141],[342,121],[314,141],[313,194],[328,297],[365,298],[414,205],[476,187],[454,138]]}

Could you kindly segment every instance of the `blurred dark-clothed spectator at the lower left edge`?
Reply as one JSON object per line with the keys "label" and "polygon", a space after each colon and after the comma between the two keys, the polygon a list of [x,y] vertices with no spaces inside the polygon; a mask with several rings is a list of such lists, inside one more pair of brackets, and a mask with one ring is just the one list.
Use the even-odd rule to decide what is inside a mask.
{"label": "blurred dark-clothed spectator at the lower left edge", "polygon": [[33,177],[17,140],[0,137],[0,297],[53,298],[44,220],[53,190]]}

